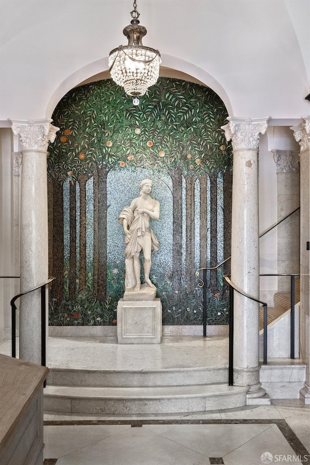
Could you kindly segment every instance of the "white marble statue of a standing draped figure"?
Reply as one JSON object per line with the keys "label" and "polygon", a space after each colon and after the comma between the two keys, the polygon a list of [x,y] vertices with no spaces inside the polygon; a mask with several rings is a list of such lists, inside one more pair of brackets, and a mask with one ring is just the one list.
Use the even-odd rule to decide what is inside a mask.
{"label": "white marble statue of a standing draped figure", "polygon": [[[150,219],[159,218],[159,202],[150,196],[153,182],[144,179],[140,183],[140,197],[134,199],[129,207],[124,207],[118,220],[125,233],[125,294],[127,291],[141,294],[156,293],[156,287],[150,279],[151,254],[159,250],[159,242],[150,228]],[[140,280],[140,252],[143,253],[144,284]]]}

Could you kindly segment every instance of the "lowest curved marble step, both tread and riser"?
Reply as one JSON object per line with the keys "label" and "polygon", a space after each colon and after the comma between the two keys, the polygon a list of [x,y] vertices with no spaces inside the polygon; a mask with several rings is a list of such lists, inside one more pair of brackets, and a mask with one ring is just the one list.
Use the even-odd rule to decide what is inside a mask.
{"label": "lowest curved marble step, both tread and riser", "polygon": [[246,404],[248,387],[225,384],[172,387],[47,386],[45,410],[88,414],[199,412]]}

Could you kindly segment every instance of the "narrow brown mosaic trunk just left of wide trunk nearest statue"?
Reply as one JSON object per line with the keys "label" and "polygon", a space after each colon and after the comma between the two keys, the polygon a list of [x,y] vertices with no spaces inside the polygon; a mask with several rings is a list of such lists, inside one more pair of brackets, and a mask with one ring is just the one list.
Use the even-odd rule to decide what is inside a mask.
{"label": "narrow brown mosaic trunk just left of wide trunk nearest statue", "polygon": [[86,287],[86,182],[89,176],[80,174],[79,184],[79,291]]}

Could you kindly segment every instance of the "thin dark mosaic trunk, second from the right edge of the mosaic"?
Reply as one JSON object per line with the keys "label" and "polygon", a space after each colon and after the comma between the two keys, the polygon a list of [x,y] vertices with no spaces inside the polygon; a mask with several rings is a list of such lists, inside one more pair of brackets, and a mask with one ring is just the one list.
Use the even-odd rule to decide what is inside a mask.
{"label": "thin dark mosaic trunk, second from the right edge of the mosaic", "polygon": [[[217,265],[217,172],[210,178],[210,267]],[[211,289],[217,291],[217,270],[210,272]]]}

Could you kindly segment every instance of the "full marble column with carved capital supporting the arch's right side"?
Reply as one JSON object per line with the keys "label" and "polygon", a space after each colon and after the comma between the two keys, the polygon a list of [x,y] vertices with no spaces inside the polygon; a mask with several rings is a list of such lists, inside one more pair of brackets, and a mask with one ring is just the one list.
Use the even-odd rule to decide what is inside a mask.
{"label": "full marble column with carved capital supporting the arch's right side", "polygon": [[[222,127],[233,145],[232,281],[259,298],[258,144],[268,117],[227,118]],[[247,403],[265,394],[260,383],[259,305],[234,293],[234,384],[249,386]]]}

